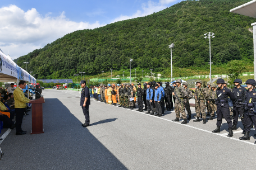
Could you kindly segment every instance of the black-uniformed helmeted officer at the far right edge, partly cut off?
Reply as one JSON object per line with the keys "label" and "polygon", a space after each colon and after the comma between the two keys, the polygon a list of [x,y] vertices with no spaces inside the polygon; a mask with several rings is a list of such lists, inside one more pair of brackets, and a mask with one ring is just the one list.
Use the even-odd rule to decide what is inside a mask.
{"label": "black-uniformed helmeted officer at the far right edge, partly cut off", "polygon": [[254,79],[248,79],[245,84],[248,89],[245,91],[244,115],[242,116],[244,117],[244,136],[240,137],[240,140],[250,140],[251,125],[252,123],[256,125],[256,82]]}

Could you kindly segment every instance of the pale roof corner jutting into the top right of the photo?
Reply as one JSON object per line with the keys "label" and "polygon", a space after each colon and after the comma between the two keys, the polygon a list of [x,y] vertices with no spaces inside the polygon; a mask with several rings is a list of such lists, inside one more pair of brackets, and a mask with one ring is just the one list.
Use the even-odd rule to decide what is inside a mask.
{"label": "pale roof corner jutting into the top right of the photo", "polygon": [[242,4],[241,6],[230,10],[230,12],[256,18],[256,0]]}

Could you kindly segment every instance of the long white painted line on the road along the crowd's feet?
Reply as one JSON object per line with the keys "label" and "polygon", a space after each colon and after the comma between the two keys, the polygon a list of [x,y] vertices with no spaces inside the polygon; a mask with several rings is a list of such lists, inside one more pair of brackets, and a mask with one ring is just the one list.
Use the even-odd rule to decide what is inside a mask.
{"label": "long white painted line on the road along the crowd's feet", "polygon": [[[64,92],[64,93],[67,93],[67,92]],[[72,93],[68,93],[68,94],[74,95],[74,94],[72,94]],[[75,96],[77,96],[77,95],[75,95]],[[92,100],[92,101],[95,101],[95,100]],[[96,102],[100,102],[100,101],[96,101]],[[111,106],[113,106],[113,105],[111,105]],[[115,106],[115,107],[118,107],[118,106]],[[118,108],[122,108],[122,107],[118,107]],[[127,109],[127,108],[123,108],[123,109]],[[130,110],[130,109],[129,109],[129,110]],[[174,123],[174,124],[179,124],[179,125],[182,125],[182,126],[187,126],[187,127],[189,127],[189,128],[193,128],[193,129],[197,129],[197,130],[204,131],[204,132],[206,132],[206,133],[210,133],[210,134],[213,134],[213,135],[222,136],[222,137],[227,138],[227,139],[232,139],[232,140],[240,141],[240,142],[247,143],[247,144],[250,144],[250,145],[254,145],[254,146],[255,146],[254,143],[251,143],[251,142],[246,141],[246,140],[240,140],[240,139],[236,139],[236,138],[227,137],[227,134],[228,134],[228,133],[222,133],[222,134],[220,134],[220,133],[212,133],[212,131],[208,131],[208,130],[204,130],[204,129],[200,129],[200,128],[195,128],[194,126],[190,126],[190,125],[188,125],[188,124],[181,124],[180,122],[176,122],[176,121],[164,119],[164,118],[162,118],[162,117],[158,117],[158,116],[154,116],[154,115],[145,114],[145,113],[143,113],[143,112],[138,112],[138,111],[135,111],[135,110],[130,110],[130,111],[134,111],[134,112],[136,112],[136,113],[138,113],[138,114],[143,114],[143,115],[146,115],[146,116],[153,116],[153,117],[155,117],[155,118],[157,118],[157,119],[166,120],[166,121],[172,122],[172,123]],[[236,134],[236,133],[240,133],[240,132],[243,132],[243,130],[234,131],[233,133]]]}

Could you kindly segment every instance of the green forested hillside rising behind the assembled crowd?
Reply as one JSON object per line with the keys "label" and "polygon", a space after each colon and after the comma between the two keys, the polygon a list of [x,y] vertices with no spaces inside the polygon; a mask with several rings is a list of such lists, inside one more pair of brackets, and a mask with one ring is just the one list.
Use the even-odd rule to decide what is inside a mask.
{"label": "green forested hillside rising behind the assembled crowd", "polygon": [[[238,59],[253,62],[253,34],[248,29],[255,18],[229,12],[250,0],[182,1],[163,11],[111,23],[94,30],[75,31],[43,49],[21,56],[15,62],[36,78],[68,78],[78,72],[100,74],[129,68],[153,69],[170,75],[170,43],[175,68],[206,68],[209,40],[214,32],[212,62],[221,65]],[[164,70],[164,71],[163,71]],[[176,70],[173,70],[175,76]],[[184,73],[186,74],[186,73]],[[187,74],[189,75],[189,73]],[[186,76],[186,75],[184,75]]]}

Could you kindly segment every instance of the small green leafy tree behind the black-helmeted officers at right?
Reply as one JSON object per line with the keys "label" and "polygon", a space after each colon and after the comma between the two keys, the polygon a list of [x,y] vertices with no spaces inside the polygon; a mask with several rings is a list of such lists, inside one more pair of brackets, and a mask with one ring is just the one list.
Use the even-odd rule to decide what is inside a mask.
{"label": "small green leafy tree behind the black-helmeted officers at right", "polygon": [[229,82],[232,84],[236,78],[241,78],[243,71],[245,70],[244,62],[240,60],[231,60],[227,63],[227,73]]}

